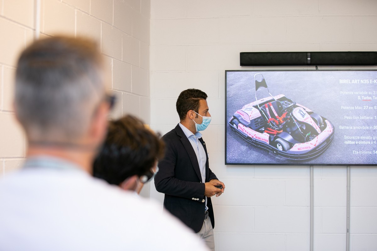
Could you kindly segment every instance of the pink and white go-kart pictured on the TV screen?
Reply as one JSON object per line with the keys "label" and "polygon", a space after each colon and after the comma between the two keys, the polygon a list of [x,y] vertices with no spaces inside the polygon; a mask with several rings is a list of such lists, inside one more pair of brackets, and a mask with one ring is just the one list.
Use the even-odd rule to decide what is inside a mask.
{"label": "pink and white go-kart pictured on the TV screen", "polygon": [[[258,76],[261,75],[261,76]],[[256,77],[261,81],[257,81]],[[334,126],[326,118],[283,94],[273,96],[263,75],[254,75],[255,100],[236,111],[228,124],[252,145],[291,160],[308,160],[322,154],[334,138]],[[257,99],[257,90],[270,96]]]}

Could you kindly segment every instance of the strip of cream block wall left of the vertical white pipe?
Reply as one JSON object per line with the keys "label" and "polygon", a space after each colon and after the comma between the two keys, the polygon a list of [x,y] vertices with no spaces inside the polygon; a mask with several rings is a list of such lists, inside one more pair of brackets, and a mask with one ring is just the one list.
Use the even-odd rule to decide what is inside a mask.
{"label": "strip of cream block wall left of the vertical white pipe", "polygon": [[14,73],[18,52],[33,39],[34,1],[0,1],[0,178],[20,167],[25,134],[13,113]]}

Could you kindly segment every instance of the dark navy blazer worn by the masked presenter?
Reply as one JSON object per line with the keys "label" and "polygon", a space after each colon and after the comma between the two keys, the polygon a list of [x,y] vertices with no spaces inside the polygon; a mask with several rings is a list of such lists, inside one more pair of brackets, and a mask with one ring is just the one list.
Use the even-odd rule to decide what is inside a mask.
{"label": "dark navy blazer worn by the masked presenter", "polygon": [[[198,233],[204,222],[205,185],[202,183],[198,158],[189,139],[179,124],[162,137],[166,144],[163,160],[159,161],[159,171],[155,176],[156,190],[165,193],[164,207],[184,224]],[[209,169],[207,148],[199,139],[205,151],[205,182],[216,179]],[[208,216],[215,227],[211,198],[207,198]]]}

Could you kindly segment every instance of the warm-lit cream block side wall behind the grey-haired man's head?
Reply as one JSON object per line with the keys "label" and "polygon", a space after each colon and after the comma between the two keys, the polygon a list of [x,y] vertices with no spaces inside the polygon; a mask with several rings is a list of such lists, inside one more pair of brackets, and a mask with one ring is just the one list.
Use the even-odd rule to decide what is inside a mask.
{"label": "warm-lit cream block side wall behind the grey-haired man's head", "polygon": [[[34,0],[0,0],[0,178],[21,166],[25,135],[14,119],[18,54],[34,40]],[[83,35],[105,56],[107,88],[117,96],[111,117],[131,113],[150,123],[149,0],[41,0],[40,37]]]}

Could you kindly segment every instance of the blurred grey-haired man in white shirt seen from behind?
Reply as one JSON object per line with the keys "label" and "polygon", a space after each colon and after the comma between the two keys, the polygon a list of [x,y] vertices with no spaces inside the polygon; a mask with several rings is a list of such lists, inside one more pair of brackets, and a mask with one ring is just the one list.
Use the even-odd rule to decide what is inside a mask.
{"label": "blurred grey-haired man in white shirt seen from behind", "polygon": [[206,250],[158,205],[92,177],[113,100],[105,76],[84,38],[45,38],[21,53],[14,104],[28,149],[0,181],[0,250]]}

